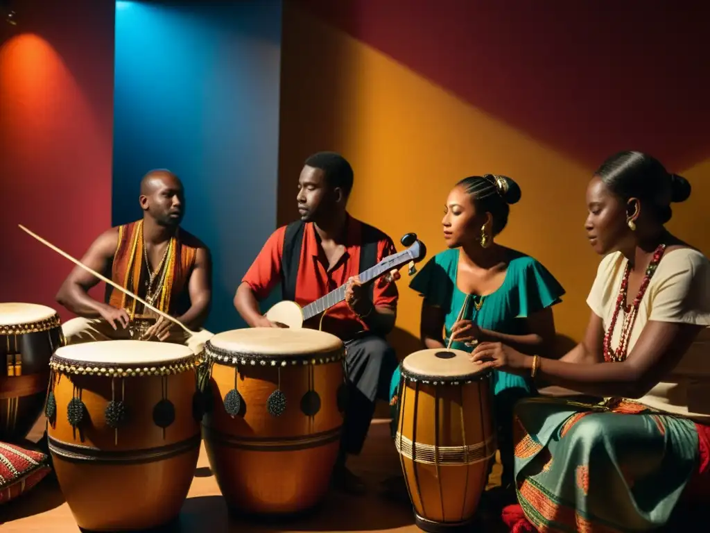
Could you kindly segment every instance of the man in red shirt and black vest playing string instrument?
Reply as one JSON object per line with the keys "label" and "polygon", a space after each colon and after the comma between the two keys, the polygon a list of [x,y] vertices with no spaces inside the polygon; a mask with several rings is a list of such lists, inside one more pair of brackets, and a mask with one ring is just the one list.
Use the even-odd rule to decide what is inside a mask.
{"label": "man in red shirt and black vest playing string instrument", "polygon": [[333,481],[349,492],[362,492],[364,486],[345,460],[347,454],[360,453],[376,399],[387,399],[389,377],[398,365],[384,338],[395,324],[398,291],[393,275],[370,287],[357,278],[363,267],[396,251],[390,237],[349,215],[352,185],[352,168],[339,154],[320,152],[305,161],[298,180],[300,221],[269,237],[242,279],[234,306],[251,327],[279,327],[263,316],[258,301],[280,281],[284,298],[300,306],[346,284],[345,301],[327,309],[312,327],[337,335],[346,345],[349,401]]}

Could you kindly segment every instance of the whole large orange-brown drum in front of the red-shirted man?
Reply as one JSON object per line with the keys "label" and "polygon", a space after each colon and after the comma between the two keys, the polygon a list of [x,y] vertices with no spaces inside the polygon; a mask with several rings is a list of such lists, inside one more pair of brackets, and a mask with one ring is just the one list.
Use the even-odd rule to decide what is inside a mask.
{"label": "whole large orange-brown drum in front of the red-shirted man", "polygon": [[342,433],[342,341],[311,329],[250,328],[218,333],[204,351],[211,372],[204,445],[230,512],[315,507]]}

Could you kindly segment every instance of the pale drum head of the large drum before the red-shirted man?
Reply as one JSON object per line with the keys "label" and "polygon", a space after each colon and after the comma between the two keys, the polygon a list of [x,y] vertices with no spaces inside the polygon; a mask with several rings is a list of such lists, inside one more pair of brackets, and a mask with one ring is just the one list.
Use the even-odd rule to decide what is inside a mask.
{"label": "pale drum head of the large drum before the red-shirted man", "polygon": [[251,360],[293,361],[293,364],[299,360],[330,362],[342,359],[345,352],[343,341],[335,335],[304,328],[224,331],[207,341],[204,350],[209,357],[235,365],[239,362],[246,364]]}

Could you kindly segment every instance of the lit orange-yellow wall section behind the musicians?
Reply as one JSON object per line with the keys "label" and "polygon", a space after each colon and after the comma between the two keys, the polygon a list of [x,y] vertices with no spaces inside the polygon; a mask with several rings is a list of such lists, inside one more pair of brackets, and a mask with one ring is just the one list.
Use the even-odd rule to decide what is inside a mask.
{"label": "lit orange-yellow wall section behind the musicians", "polygon": [[[406,232],[416,232],[427,244],[428,259],[444,249],[440,220],[452,185],[472,174],[511,176],[520,184],[523,199],[513,206],[499,240],[536,257],[557,276],[567,289],[564,303],[555,309],[557,329],[579,338],[589,316],[584,301],[599,262],[583,227],[584,192],[601,163],[599,155],[584,157],[584,146],[575,152],[553,136],[535,136],[528,127],[513,126],[510,118],[476,107],[471,98],[432,82],[355,38],[353,31],[324,21],[327,17],[318,16],[312,6],[297,4],[301,3],[285,2],[283,15],[278,223],[296,216],[295,185],[305,157],[318,150],[336,150],[355,171],[351,213],[380,227],[395,243]],[[346,4],[352,7],[359,2]],[[358,20],[366,25],[372,18]],[[407,18],[401,23],[408,23]],[[523,53],[520,50],[521,61]],[[480,82],[485,84],[486,79]],[[677,80],[698,82],[692,76]],[[564,121],[569,123],[569,136],[579,134],[584,144],[580,130],[585,125],[575,122],[575,117]],[[618,117],[617,122],[605,126],[623,129],[623,119]],[[615,149],[636,149],[634,139],[629,136],[626,144]],[[710,234],[704,231],[710,159],[688,161],[701,161],[697,153],[708,149],[710,142],[693,154],[677,154],[671,163],[664,160],[669,166],[686,165],[671,170],[683,173],[694,187],[692,199],[675,208],[670,228],[706,253],[710,252]],[[406,276],[400,294],[398,328],[418,335],[420,298],[408,289]]]}

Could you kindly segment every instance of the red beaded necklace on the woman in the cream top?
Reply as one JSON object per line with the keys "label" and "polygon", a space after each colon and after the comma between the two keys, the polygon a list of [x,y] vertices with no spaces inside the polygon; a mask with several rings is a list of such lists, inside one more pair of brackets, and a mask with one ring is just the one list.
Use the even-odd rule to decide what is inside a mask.
{"label": "red beaded necklace on the woman in the cream top", "polygon": [[[666,245],[659,244],[656,251],[653,252],[653,257],[651,262],[648,264],[646,273],[643,276],[643,281],[641,281],[641,286],[638,289],[638,294],[633,298],[633,303],[630,306],[626,305],[626,294],[628,290],[628,276],[631,272],[631,267],[626,262],[626,271],[624,272],[623,279],[621,280],[621,289],[619,289],[618,298],[616,298],[616,309],[614,309],[614,314],[611,317],[611,323],[609,323],[609,328],[604,335],[603,348],[604,348],[604,360],[606,362],[620,362],[626,360],[627,350],[628,350],[628,340],[631,336],[631,330],[636,322],[636,314],[638,313],[638,307],[641,304],[643,295],[646,293],[648,288],[648,283],[651,281],[653,274],[655,273],[658,264],[663,257],[663,252],[665,252]],[[621,337],[619,338],[619,345],[616,350],[611,348],[611,336],[614,333],[614,327],[616,326],[616,319],[618,318],[619,311],[621,308],[624,309],[624,318],[621,325]]]}

